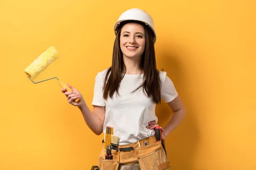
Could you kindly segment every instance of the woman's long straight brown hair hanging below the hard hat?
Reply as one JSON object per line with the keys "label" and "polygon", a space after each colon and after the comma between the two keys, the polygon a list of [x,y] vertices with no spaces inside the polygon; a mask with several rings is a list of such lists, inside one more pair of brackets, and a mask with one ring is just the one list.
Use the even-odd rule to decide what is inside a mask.
{"label": "woman's long straight brown hair hanging below the hard hat", "polygon": [[154,34],[151,28],[139,21],[125,21],[120,24],[117,30],[116,39],[113,46],[112,66],[108,68],[104,85],[103,85],[103,98],[112,98],[113,94],[119,91],[119,85],[125,76],[126,68],[122,57],[120,48],[120,34],[121,28],[126,23],[139,23],[145,30],[145,50],[141,59],[141,68],[144,72],[143,83],[133,92],[143,88],[144,94],[151,97],[154,103],[161,103],[161,82],[160,74],[157,70],[155,51],[154,51]]}

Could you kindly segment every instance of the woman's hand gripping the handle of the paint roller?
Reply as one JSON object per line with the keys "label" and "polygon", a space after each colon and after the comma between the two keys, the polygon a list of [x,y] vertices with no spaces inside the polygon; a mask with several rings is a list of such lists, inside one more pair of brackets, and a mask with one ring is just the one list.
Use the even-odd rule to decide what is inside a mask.
{"label": "woman's hand gripping the handle of the paint roller", "polygon": [[[67,91],[66,88],[62,88],[61,89],[61,92],[64,93],[67,97],[67,101],[73,105],[73,106],[81,106],[84,102],[84,98],[82,96],[82,94],[76,90],[76,88],[73,88],[70,84],[67,84],[68,87],[71,88],[71,90],[73,91]],[[75,102],[76,99],[79,99],[80,100],[78,102]]]}

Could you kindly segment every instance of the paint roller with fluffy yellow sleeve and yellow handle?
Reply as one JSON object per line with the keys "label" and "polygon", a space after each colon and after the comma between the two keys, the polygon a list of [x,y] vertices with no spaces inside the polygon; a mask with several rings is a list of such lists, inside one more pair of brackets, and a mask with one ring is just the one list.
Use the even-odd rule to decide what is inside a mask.
{"label": "paint roller with fluffy yellow sleeve and yellow handle", "polygon": [[[42,71],[44,71],[55,59],[59,57],[58,51],[55,49],[55,47],[50,46],[46,51],[44,51],[37,59],[34,60],[27,68],[25,68],[24,72],[27,74],[28,78],[33,82],[33,83],[39,83],[39,82],[44,82],[49,79],[57,79],[58,84],[62,88],[66,88],[67,91],[73,91],[71,90],[65,82],[62,80],[59,80],[57,77],[52,77],[49,79],[45,79],[42,81],[34,82],[33,79],[35,79]],[[80,100],[76,99],[75,102],[78,102]]]}

